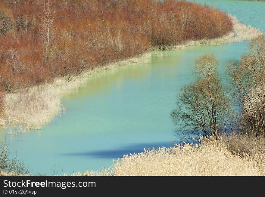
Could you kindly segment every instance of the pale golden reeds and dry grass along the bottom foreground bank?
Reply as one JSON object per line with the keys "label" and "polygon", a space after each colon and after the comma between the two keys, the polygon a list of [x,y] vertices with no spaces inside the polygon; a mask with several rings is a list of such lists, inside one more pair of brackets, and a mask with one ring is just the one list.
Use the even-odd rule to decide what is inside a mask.
{"label": "pale golden reeds and dry grass along the bottom foreground bank", "polygon": [[222,136],[173,148],[144,149],[124,155],[103,171],[74,176],[254,176],[264,175],[265,140],[247,136]]}

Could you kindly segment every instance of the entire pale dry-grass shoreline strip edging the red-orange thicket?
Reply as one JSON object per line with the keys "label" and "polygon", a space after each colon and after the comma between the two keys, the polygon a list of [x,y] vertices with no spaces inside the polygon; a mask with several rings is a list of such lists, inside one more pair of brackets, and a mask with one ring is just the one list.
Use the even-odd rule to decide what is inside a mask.
{"label": "entire pale dry-grass shoreline strip edging the red-orange thicket", "polygon": [[[165,50],[181,50],[184,47],[192,45],[218,45],[240,42],[263,34],[259,29],[246,26],[237,20],[236,17],[231,17],[234,30],[228,35],[221,38],[202,39],[188,41],[181,45],[171,45],[165,47]],[[93,70],[73,77],[70,82],[66,82],[67,77],[57,78],[52,83],[46,85],[38,85],[25,90],[19,90],[15,93],[8,93],[5,95],[5,118],[0,119],[0,126],[11,128],[11,133],[14,128],[16,130],[15,132],[41,129],[42,126],[51,122],[55,115],[65,111],[61,97],[85,84],[89,76],[99,71],[113,69],[122,65],[148,63],[152,51],[157,51],[157,48],[152,48],[150,52],[139,57],[132,57],[105,66],[96,67]]]}

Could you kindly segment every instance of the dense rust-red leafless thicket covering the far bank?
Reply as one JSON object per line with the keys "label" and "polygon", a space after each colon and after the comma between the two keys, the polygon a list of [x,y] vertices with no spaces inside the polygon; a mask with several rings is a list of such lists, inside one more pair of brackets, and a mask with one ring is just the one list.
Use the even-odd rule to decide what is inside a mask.
{"label": "dense rust-red leafless thicket covering the far bank", "polygon": [[0,115],[5,93],[232,30],[228,14],[186,1],[1,0]]}

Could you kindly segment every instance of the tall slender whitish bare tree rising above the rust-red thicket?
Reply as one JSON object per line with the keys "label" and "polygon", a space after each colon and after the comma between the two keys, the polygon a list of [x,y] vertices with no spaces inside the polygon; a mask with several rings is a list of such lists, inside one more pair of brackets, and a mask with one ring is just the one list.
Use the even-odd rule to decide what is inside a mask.
{"label": "tall slender whitish bare tree rising above the rust-red thicket", "polygon": [[55,18],[55,10],[52,8],[50,0],[47,0],[45,2],[45,5],[43,7],[43,16],[41,17],[42,24],[40,26],[41,29],[41,35],[44,41],[44,47],[45,47],[45,62],[48,65],[48,53],[49,53],[49,47],[50,47],[50,40],[51,36],[53,34],[52,31],[52,25]]}

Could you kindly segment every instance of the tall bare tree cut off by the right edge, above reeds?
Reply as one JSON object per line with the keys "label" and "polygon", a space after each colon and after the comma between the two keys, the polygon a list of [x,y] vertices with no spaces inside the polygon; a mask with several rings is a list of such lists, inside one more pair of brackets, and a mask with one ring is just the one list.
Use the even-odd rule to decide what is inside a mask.
{"label": "tall bare tree cut off by the right edge, above reeds", "polygon": [[265,136],[265,37],[248,44],[249,53],[241,61],[231,61],[233,98],[241,109],[240,130]]}

